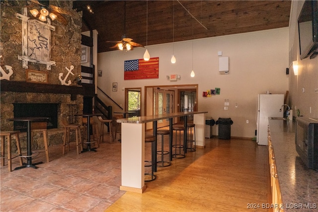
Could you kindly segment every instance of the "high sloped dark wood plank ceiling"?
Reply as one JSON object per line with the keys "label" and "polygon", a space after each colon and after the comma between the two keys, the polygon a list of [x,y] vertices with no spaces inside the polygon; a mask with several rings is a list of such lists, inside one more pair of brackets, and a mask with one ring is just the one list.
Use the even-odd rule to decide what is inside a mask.
{"label": "high sloped dark wood plank ceiling", "polygon": [[146,46],[287,27],[291,1],[76,0],[74,8],[87,23],[82,31],[96,29],[98,52],[106,52],[115,44],[106,41],[120,41],[124,34]]}

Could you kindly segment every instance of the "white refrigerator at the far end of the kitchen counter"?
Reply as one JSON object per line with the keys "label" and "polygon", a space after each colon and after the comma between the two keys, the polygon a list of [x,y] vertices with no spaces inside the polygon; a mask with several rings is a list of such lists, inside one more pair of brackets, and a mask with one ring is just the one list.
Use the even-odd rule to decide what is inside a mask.
{"label": "white refrigerator at the far end of the kitchen counter", "polygon": [[267,145],[268,117],[283,117],[283,94],[259,94],[256,104],[256,142],[258,145]]}

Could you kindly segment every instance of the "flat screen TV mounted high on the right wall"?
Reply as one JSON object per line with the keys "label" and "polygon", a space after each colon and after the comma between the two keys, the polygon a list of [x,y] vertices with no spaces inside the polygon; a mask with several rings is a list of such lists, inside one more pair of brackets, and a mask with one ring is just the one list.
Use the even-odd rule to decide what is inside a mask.
{"label": "flat screen TV mounted high on the right wall", "polygon": [[300,59],[318,55],[318,1],[306,0],[298,17]]}

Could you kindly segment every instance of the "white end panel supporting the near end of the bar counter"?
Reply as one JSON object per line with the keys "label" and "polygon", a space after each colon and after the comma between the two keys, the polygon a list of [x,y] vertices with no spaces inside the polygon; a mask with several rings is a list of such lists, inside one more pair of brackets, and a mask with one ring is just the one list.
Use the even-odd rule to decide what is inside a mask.
{"label": "white end panel supporting the near end of the bar counter", "polygon": [[145,123],[121,123],[120,190],[143,193],[145,186]]}

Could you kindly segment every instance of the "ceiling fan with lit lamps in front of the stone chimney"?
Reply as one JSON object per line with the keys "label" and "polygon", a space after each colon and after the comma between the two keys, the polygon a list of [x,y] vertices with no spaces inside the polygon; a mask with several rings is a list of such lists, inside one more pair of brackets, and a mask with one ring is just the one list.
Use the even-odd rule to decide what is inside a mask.
{"label": "ceiling fan with lit lamps in front of the stone chimney", "polygon": [[40,11],[37,9],[31,9],[30,12],[35,18],[39,18],[41,21],[46,21],[47,16],[49,16],[52,20],[57,19],[61,23],[67,25],[68,21],[62,14],[71,13],[61,7],[54,6],[50,4],[49,0],[30,0],[30,5],[40,6]]}

